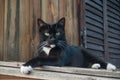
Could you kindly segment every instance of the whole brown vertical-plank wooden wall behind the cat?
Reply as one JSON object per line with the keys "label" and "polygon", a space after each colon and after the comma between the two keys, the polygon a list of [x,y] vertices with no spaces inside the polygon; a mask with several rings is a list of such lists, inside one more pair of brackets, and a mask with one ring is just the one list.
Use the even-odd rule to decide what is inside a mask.
{"label": "whole brown vertical-plank wooden wall behind the cat", "polygon": [[0,60],[26,61],[39,42],[36,20],[66,18],[70,44],[79,44],[79,0],[0,0]]}

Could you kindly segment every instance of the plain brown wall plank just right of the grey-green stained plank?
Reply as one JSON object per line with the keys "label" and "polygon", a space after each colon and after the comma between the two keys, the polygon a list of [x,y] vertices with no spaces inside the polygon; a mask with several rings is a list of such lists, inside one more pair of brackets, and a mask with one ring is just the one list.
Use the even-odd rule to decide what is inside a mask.
{"label": "plain brown wall plank just right of the grey-green stained plank", "polygon": [[30,4],[28,0],[20,0],[20,34],[19,53],[20,61],[29,60],[30,52]]}

